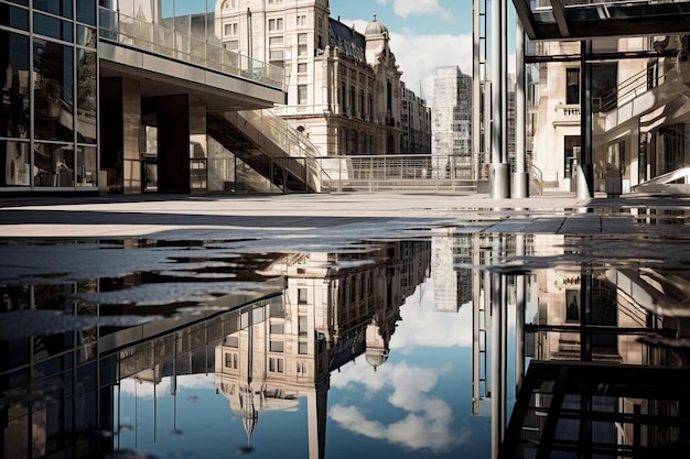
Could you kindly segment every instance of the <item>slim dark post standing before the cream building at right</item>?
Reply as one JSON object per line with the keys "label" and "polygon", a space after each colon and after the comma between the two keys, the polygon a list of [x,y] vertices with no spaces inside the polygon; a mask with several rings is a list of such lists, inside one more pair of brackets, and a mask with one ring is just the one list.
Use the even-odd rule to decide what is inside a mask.
{"label": "slim dark post standing before the cream building at right", "polygon": [[575,195],[579,199],[594,197],[592,162],[592,41],[580,42],[580,161]]}

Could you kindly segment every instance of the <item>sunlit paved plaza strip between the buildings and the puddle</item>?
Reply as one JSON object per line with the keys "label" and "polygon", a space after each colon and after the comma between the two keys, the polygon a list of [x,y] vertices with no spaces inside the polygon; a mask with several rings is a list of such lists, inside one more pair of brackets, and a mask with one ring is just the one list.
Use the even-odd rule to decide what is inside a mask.
{"label": "sunlit paved plaza strip between the buildings and the puddle", "polygon": [[[493,199],[452,194],[138,195],[0,200],[0,238],[226,239],[285,232],[353,237],[416,226],[493,232],[601,234],[642,231],[640,216],[671,215],[682,230],[690,199],[573,193]],[[649,231],[649,226],[644,226]],[[669,226],[659,227],[668,231]]]}

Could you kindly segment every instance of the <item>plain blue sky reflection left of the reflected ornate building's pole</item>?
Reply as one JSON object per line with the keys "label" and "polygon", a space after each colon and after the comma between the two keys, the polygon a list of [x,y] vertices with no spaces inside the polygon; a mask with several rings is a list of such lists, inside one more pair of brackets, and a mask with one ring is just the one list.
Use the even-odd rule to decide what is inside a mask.
{"label": "plain blue sky reflection left of the reflected ornate building's pole", "polygon": [[[214,381],[215,375],[212,373],[177,376],[175,401],[170,394],[171,379],[163,379],[155,387],[154,419],[153,385],[139,384],[132,379],[123,380],[120,390],[122,413],[119,422],[121,426],[131,426],[132,429],[120,433],[119,448],[153,453],[158,458],[206,459],[236,456],[237,448],[247,445],[247,434],[241,415],[234,414],[228,400],[216,394]],[[136,429],[134,413],[139,419]],[[158,426],[155,436],[154,423]],[[304,398],[300,398],[297,412],[261,412],[251,437],[251,445],[255,447],[251,457],[305,458],[306,429]],[[118,439],[115,441],[117,447]]]}

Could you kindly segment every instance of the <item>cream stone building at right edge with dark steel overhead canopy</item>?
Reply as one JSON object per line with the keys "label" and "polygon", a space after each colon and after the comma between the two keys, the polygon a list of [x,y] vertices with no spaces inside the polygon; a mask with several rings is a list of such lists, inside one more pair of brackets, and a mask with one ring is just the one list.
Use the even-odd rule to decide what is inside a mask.
{"label": "cream stone building at right edge with dark steel overhead canopy", "polygon": [[[522,0],[515,3],[530,39],[526,61],[535,69],[528,75],[538,75],[528,132],[543,185],[576,189],[581,170],[591,174],[593,192],[687,194],[690,66],[680,25],[690,3],[580,4],[564,15],[548,0],[538,2],[538,15]],[[590,19],[575,24],[575,12]],[[591,100],[582,99],[583,90]]]}

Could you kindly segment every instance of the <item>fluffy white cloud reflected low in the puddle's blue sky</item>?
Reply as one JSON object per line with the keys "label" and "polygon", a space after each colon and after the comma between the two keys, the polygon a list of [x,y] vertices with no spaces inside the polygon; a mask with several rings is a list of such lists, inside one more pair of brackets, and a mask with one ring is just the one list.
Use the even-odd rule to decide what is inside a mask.
{"label": "fluffy white cloud reflected low in the puddle's blue sky", "polygon": [[[371,378],[371,368],[364,364],[348,365],[342,373],[332,376],[332,386],[365,384],[369,395],[392,387],[388,402],[408,414],[400,420],[386,425],[368,419],[356,406],[333,406],[328,414],[343,428],[369,438],[386,439],[412,449],[428,448],[433,451],[451,449],[462,444],[470,435],[467,429],[452,426],[453,413],[442,400],[427,396],[439,378],[450,371],[449,367],[421,368],[407,363],[382,365]],[[367,374],[363,374],[367,373]]]}

